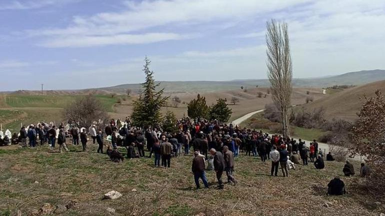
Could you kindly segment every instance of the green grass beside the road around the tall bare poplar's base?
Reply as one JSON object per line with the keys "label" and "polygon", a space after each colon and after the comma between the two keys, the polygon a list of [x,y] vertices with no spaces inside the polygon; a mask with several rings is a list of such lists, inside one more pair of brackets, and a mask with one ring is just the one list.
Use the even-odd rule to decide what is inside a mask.
{"label": "green grass beside the road around the tall bare poplar's base", "polygon": [[[241,127],[249,127],[257,130],[262,130],[270,133],[275,133],[271,131],[272,128],[279,128],[280,124],[277,122],[271,122],[263,117],[262,113],[256,113],[251,116],[246,121],[240,124]],[[305,139],[305,140],[318,140],[320,136],[327,133],[327,131],[323,131],[315,128],[301,128],[296,126],[291,126],[292,136]]]}

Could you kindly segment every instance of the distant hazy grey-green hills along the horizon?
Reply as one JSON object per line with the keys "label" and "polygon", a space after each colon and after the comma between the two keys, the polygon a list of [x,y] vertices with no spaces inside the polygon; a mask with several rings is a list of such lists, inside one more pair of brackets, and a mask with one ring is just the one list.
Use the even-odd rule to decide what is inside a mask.
{"label": "distant hazy grey-green hills along the horizon", "polygon": [[[293,79],[294,87],[312,87],[326,88],[333,85],[363,85],[375,81],[385,80],[385,70],[358,71],[346,73],[338,76]],[[232,80],[232,81],[161,81],[161,88],[165,92],[214,92],[226,91],[244,88],[268,87],[270,85],[267,79],[260,80]],[[140,91],[140,84],[123,84],[118,86],[97,88],[107,92],[125,93],[131,89],[133,93]]]}

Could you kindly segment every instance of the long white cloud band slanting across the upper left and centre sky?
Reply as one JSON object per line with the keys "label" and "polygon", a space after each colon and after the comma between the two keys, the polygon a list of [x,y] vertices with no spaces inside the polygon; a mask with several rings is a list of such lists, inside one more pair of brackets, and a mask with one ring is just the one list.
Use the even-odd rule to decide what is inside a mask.
{"label": "long white cloud band slanting across the upper left and centre sky", "polygon": [[[151,32],[151,28],[162,26],[177,29],[182,26],[209,25],[211,22],[218,22],[213,26],[214,28],[232,27],[236,23],[249,20],[254,16],[261,16],[307,1],[293,0],[282,2],[271,0],[268,3],[255,0],[145,0],[139,3],[126,1],[126,8],[118,13],[99,13],[89,17],[76,16],[66,28],[29,30],[27,33],[30,36],[45,36],[46,39],[42,44],[51,47],[64,47],[61,45],[65,44],[68,47],[73,45],[74,47],[81,47],[77,43],[68,42],[73,41],[75,38],[90,41],[85,43],[88,44],[86,46],[131,44],[130,40],[127,43],[113,39],[114,37],[120,38],[120,35],[132,34],[132,32],[137,31],[148,33]],[[196,29],[195,31],[199,30]],[[189,32],[188,34],[194,35],[196,32]],[[185,39],[185,37],[175,37],[173,40],[180,39]],[[147,41],[147,43],[152,43],[153,40]]]}

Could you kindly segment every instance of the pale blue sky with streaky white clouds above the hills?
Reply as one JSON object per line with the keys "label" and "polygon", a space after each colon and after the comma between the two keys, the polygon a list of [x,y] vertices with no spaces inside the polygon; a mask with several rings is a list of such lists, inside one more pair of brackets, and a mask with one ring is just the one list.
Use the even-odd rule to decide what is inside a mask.
{"label": "pale blue sky with streaky white clouds above the hills", "polygon": [[0,0],[0,91],[265,79],[266,22],[294,78],[385,69],[383,0]]}

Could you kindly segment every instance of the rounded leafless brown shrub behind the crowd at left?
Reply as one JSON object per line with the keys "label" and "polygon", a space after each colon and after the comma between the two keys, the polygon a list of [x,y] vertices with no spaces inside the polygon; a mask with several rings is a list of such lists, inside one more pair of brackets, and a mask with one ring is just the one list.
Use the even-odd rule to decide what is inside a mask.
{"label": "rounded leafless brown shrub behind the crowd at left", "polygon": [[108,120],[105,106],[92,95],[76,98],[72,103],[68,104],[64,108],[63,117],[85,128],[91,126],[93,121],[100,119],[106,122]]}

